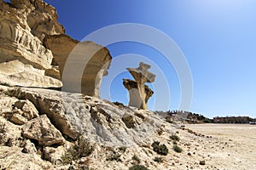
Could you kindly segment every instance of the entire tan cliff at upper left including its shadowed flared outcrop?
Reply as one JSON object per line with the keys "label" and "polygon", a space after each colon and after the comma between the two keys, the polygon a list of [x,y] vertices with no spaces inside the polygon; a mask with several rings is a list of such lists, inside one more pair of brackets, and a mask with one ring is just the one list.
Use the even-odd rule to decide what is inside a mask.
{"label": "entire tan cliff at upper left including its shadowed flared outcrop", "polygon": [[[63,74],[70,54],[77,58],[69,60],[72,64]],[[64,84],[65,91],[99,97],[111,59],[107,48],[65,35],[55,8],[44,1],[1,0],[0,83],[38,88]],[[79,68],[81,76],[74,72]],[[79,89],[73,84],[79,84]]]}

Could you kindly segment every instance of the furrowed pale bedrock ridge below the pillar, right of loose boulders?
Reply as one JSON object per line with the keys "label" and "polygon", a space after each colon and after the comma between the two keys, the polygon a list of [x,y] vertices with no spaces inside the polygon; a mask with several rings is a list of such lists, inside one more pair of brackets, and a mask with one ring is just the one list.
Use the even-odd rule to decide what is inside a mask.
{"label": "furrowed pale bedrock ridge below the pillar, right of loose boulders", "polygon": [[[7,94],[30,100],[61,133],[72,139],[84,135],[100,144],[135,144],[148,133],[154,133],[162,122],[150,111],[119,108],[111,102],[83,94],[37,88],[10,88]],[[132,126],[123,118],[127,114],[134,120]]]}

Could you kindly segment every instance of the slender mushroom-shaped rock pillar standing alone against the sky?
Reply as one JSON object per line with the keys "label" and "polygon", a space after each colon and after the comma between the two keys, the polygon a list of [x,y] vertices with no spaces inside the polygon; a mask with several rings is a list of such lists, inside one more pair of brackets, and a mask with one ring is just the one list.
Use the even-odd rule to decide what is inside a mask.
{"label": "slender mushroom-shaped rock pillar standing alone against the sky", "polygon": [[135,81],[123,79],[123,84],[130,94],[129,105],[144,110],[148,109],[148,99],[154,94],[154,92],[145,85],[145,82],[154,82],[155,78],[155,75],[148,71],[149,68],[150,65],[141,62],[138,68],[127,68]]}

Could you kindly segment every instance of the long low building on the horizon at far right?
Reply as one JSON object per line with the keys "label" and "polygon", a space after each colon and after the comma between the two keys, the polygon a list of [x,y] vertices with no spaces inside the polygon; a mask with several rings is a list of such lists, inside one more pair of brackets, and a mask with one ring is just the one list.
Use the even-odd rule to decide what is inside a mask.
{"label": "long low building on the horizon at far right", "polygon": [[213,117],[214,123],[249,123],[251,118],[249,116],[223,116]]}

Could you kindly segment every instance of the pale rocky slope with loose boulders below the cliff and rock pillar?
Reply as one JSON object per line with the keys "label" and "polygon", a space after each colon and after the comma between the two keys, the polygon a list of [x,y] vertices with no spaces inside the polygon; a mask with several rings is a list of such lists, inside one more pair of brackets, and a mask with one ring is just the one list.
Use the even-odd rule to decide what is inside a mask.
{"label": "pale rocky slope with loose boulders below the cliff and rock pillar", "polygon": [[53,168],[56,160],[62,166],[61,156],[81,136],[98,150],[138,147],[163,124],[153,112],[83,94],[6,86],[0,86],[0,94],[2,168]]}

